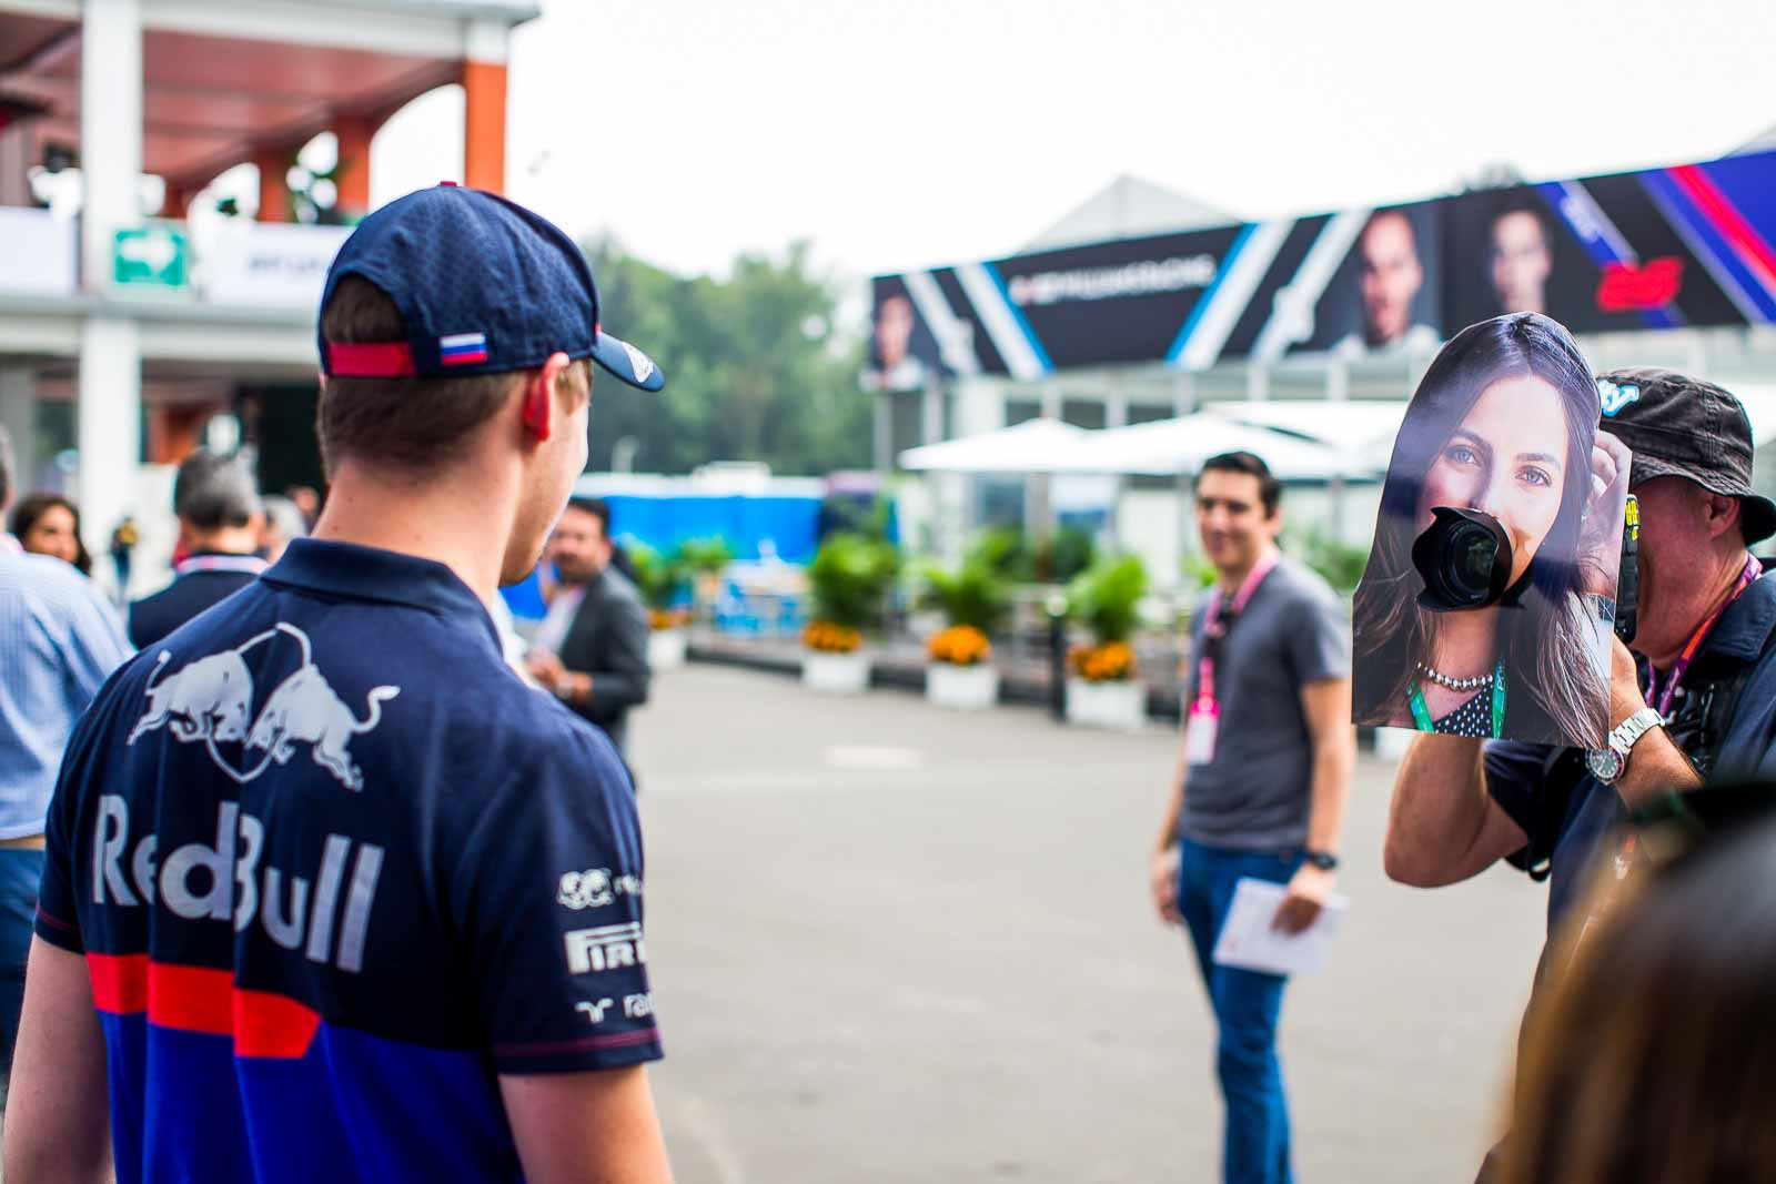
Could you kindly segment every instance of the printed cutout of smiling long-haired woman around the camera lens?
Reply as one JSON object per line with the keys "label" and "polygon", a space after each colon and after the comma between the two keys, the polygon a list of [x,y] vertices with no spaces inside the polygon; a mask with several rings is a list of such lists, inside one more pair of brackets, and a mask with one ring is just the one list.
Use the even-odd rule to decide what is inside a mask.
{"label": "printed cutout of smiling long-haired woman around the camera lens", "polygon": [[[1407,407],[1353,609],[1359,724],[1600,747],[1629,451],[1572,335],[1536,312],[1469,325]],[[1511,549],[1479,609],[1419,604],[1412,543],[1474,509]]]}

